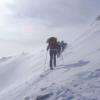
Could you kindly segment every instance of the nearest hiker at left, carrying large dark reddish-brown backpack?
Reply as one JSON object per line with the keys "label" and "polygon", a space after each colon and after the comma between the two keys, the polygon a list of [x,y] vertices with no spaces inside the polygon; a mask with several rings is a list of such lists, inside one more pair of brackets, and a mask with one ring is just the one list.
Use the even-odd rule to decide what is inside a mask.
{"label": "nearest hiker at left, carrying large dark reddish-brown backpack", "polygon": [[47,50],[50,50],[50,69],[53,70],[53,64],[54,67],[56,67],[56,55],[57,55],[57,38],[50,37],[47,40],[48,46]]}

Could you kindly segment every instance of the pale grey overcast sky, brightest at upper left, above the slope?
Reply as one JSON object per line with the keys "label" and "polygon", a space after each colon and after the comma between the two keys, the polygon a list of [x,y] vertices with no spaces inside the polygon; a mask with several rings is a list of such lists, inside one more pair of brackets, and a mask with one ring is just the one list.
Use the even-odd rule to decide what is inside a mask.
{"label": "pale grey overcast sky, brightest at upper left, above the slope", "polygon": [[70,42],[100,13],[100,0],[0,0],[0,56],[34,50],[49,36]]}

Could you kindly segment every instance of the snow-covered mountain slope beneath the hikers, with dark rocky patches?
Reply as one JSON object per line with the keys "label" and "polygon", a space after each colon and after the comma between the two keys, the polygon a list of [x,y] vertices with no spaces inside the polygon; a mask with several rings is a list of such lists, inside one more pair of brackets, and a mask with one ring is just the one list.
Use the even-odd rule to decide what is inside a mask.
{"label": "snow-covered mountain slope beneath the hikers, with dark rocky patches", "polygon": [[100,100],[100,22],[79,36],[50,71],[46,51],[0,61],[0,100]]}

